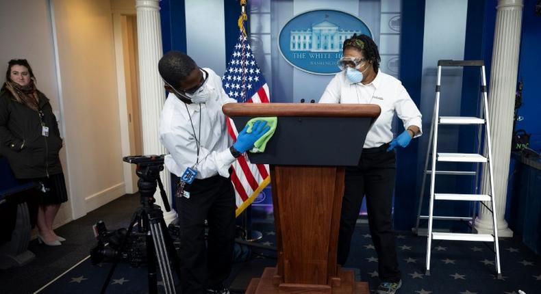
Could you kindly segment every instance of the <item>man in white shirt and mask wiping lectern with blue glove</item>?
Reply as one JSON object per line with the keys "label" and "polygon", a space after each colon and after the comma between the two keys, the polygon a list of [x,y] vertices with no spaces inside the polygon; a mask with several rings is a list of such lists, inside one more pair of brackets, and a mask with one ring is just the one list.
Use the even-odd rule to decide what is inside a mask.
{"label": "man in white shirt and mask wiping lectern with blue glove", "polygon": [[255,122],[251,133],[244,128],[231,146],[222,105],[236,101],[225,94],[221,78],[179,51],[166,53],[158,70],[169,92],[160,120],[160,142],[169,152],[167,169],[181,179],[175,199],[182,293],[227,294],[223,281],[231,271],[235,236],[229,166],[269,127]]}

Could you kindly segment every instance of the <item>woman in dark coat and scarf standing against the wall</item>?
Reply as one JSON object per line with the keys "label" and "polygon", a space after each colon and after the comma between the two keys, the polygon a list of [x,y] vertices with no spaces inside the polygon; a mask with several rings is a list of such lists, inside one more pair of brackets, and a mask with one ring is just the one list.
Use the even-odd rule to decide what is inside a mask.
{"label": "woman in dark coat and scarf standing against the wall", "polygon": [[0,90],[0,151],[17,180],[38,183],[42,194],[36,224],[38,240],[47,245],[65,241],[53,231],[67,192],[59,152],[62,138],[49,99],[36,89],[26,59],[12,59]]}

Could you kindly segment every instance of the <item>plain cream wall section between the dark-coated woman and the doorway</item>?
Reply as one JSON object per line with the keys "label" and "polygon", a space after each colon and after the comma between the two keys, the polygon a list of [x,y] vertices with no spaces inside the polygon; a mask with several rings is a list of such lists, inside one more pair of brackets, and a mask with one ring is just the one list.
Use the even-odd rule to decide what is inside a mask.
{"label": "plain cream wall section between the dark-coated woman and the doorway", "polygon": [[52,0],[74,218],[123,195],[110,0]]}

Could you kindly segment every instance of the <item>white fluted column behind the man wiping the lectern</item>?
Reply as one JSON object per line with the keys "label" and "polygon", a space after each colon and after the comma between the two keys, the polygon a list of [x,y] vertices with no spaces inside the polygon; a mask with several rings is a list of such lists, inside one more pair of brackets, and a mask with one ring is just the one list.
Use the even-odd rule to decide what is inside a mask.
{"label": "white fluted column behind the man wiping the lectern", "polygon": [[[163,55],[160,1],[136,0],[136,10],[143,152],[145,155],[161,155],[167,151],[158,137],[158,126],[165,101],[164,84],[158,72],[158,61]],[[171,176],[167,169],[160,173],[160,177],[171,202],[173,199]],[[162,206],[165,222],[169,224],[177,213],[173,209],[170,212],[165,211],[159,189],[154,193],[154,198],[156,204]]]}

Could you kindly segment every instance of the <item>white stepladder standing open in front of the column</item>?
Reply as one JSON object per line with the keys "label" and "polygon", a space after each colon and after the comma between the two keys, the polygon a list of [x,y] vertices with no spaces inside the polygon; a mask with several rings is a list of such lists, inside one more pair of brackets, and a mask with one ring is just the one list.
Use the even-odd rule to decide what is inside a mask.
{"label": "white stepladder standing open in front of the column", "polygon": [[[480,117],[464,117],[464,116],[440,116],[440,85],[442,76],[442,67],[464,67],[464,66],[479,66],[481,70],[481,113]],[[484,126],[484,143],[483,155],[481,151],[481,140],[477,143],[477,153],[443,153],[438,152],[438,126],[440,124],[455,124],[455,125],[477,125],[479,130]],[[478,131],[479,131],[478,130]],[[479,132],[481,134],[481,132]],[[431,154],[431,156],[430,156]],[[431,161],[431,170],[427,170],[428,163]],[[437,162],[469,162],[476,163],[475,171],[458,171],[458,170],[436,170]],[[461,193],[436,193],[436,174],[443,175],[467,175],[475,176],[479,173],[479,165],[486,165],[484,172],[490,174],[490,194],[461,194]],[[428,215],[420,215],[421,206],[423,204],[423,194],[425,193],[425,183],[427,174],[430,174],[430,199]],[[426,271],[427,276],[430,275],[430,258],[432,240],[457,240],[457,241],[483,241],[493,242],[494,253],[496,258],[496,273],[498,278],[501,278],[500,267],[500,252],[498,244],[498,228],[496,226],[496,204],[494,203],[494,177],[492,171],[492,145],[490,140],[490,120],[488,115],[488,98],[486,88],[486,75],[483,60],[439,60],[438,61],[438,80],[436,83],[436,101],[434,103],[433,121],[430,130],[429,147],[427,149],[427,157],[425,161],[425,170],[423,175],[423,186],[419,196],[419,206],[417,213],[417,222],[414,232],[418,234],[420,219],[428,219],[427,229],[427,260]],[[433,232],[433,220],[473,220],[475,215],[469,217],[451,217],[451,216],[435,216],[433,215],[435,200],[449,201],[470,201],[479,202],[486,206],[492,212],[493,232],[492,234],[475,234],[475,233],[453,233],[453,232]]]}

